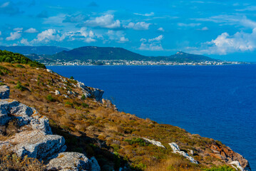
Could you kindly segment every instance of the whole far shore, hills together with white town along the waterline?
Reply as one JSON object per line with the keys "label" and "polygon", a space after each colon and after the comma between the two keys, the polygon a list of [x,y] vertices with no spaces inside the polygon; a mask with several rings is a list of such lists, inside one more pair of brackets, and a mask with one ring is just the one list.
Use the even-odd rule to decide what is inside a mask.
{"label": "whole far shore, hills together with white town along the waterline", "polygon": [[124,48],[83,46],[69,50],[56,46],[0,46],[1,50],[21,53],[46,66],[209,66],[247,64],[221,61],[208,56],[178,51],[171,56],[143,56]]}

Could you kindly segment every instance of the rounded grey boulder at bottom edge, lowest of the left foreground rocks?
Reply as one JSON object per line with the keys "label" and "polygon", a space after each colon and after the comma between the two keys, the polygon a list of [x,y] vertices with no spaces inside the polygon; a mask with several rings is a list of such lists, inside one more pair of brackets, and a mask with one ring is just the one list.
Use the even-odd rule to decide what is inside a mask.
{"label": "rounded grey boulder at bottom edge, lowest of the left foreground rocks", "polygon": [[48,162],[47,170],[99,171],[101,168],[94,157],[89,160],[79,152],[61,152]]}

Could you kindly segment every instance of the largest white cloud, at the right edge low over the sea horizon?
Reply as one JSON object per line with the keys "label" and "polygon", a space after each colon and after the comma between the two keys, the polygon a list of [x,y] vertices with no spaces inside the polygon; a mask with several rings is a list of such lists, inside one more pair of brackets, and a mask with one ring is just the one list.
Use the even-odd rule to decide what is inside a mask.
{"label": "largest white cloud, at the right edge low over the sea horizon", "polygon": [[222,33],[212,41],[203,43],[200,48],[193,50],[193,52],[225,55],[234,52],[254,51],[255,48],[256,28],[252,30],[252,33],[240,31],[231,36],[228,33]]}

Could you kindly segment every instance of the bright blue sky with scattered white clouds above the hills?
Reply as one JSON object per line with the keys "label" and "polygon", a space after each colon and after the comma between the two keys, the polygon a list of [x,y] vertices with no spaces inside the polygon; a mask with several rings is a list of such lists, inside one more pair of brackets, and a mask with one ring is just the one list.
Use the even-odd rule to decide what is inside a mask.
{"label": "bright blue sky with scattered white clouds above the hills", "polygon": [[121,47],[256,61],[254,0],[0,0],[0,46]]}

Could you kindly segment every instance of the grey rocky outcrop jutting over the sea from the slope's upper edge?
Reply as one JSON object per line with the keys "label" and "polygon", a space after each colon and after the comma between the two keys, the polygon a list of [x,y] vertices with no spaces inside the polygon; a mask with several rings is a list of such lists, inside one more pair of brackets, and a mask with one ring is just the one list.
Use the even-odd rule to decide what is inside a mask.
{"label": "grey rocky outcrop jutting over the sea from the slope's upper edge", "polygon": [[103,90],[87,87],[84,85],[84,83],[79,81],[77,82],[76,87],[81,88],[83,95],[85,95],[86,98],[95,98],[97,101],[102,100],[102,95],[104,93]]}

